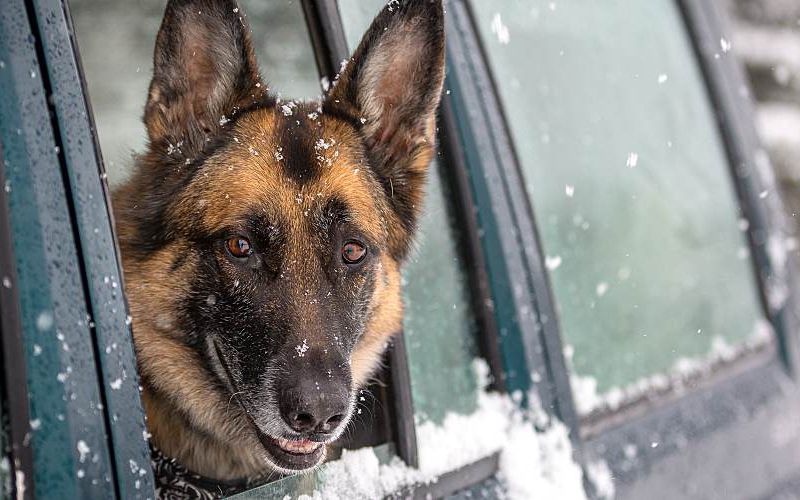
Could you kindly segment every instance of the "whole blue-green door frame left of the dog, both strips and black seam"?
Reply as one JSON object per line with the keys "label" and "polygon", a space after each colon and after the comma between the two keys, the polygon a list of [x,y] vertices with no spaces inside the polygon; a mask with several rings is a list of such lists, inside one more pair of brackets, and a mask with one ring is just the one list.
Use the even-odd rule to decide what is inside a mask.
{"label": "whole blue-green door frame left of the dog, both strips and black seam", "polygon": [[[4,304],[4,355],[15,362],[4,366],[4,378],[20,381],[8,396],[10,411],[18,414],[11,434],[22,433],[22,447],[31,455],[20,461],[24,497],[32,498],[34,491],[40,496],[149,497],[153,479],[127,304],[68,6],[60,1],[10,0],[0,23],[0,53],[6,61],[0,88],[11,96],[8,114],[0,113],[0,137],[5,153],[14,153],[19,165],[15,175],[21,181],[7,193],[11,207],[4,207],[0,216],[11,228],[47,229],[39,235],[41,247],[59,249],[34,249],[35,257],[17,255],[15,260],[13,239],[6,248],[4,264],[14,274],[13,293],[5,294],[10,300]],[[15,134],[11,127],[18,127]],[[4,175],[9,178],[7,170]],[[54,271],[61,266],[74,270],[74,275],[67,278],[64,271]],[[22,273],[27,282],[18,279]],[[43,279],[32,281],[33,276]],[[23,307],[21,296],[53,311],[53,324],[72,346],[72,354],[60,353],[63,346],[55,340],[33,344],[33,311]],[[15,310],[21,321],[9,313]],[[73,324],[79,314],[84,318]],[[42,357],[35,359],[37,350]],[[62,400],[60,390],[49,390],[55,371],[80,381],[70,387],[76,402]],[[116,379],[122,385],[112,388]],[[86,402],[87,408],[96,406],[81,409]],[[25,419],[29,404],[39,408],[40,415],[59,416],[58,424],[33,430]],[[81,441],[91,443],[91,463],[96,465],[78,456],[87,453],[76,449]]]}

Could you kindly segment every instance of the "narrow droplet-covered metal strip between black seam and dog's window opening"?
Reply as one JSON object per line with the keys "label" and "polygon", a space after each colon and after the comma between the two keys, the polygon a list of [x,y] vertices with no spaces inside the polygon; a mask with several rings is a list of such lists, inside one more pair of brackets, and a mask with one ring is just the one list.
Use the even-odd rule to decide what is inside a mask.
{"label": "narrow droplet-covered metal strip between black seam and dog's window opening", "polygon": [[[55,133],[60,136],[67,195],[71,198],[78,253],[85,273],[84,287],[95,325],[95,359],[102,373],[100,395],[115,487],[121,498],[146,497],[151,495],[154,482],[133,335],[105,168],[75,31],[67,0],[29,2],[52,89],[51,112]],[[131,471],[131,464],[137,464],[136,471]]]}

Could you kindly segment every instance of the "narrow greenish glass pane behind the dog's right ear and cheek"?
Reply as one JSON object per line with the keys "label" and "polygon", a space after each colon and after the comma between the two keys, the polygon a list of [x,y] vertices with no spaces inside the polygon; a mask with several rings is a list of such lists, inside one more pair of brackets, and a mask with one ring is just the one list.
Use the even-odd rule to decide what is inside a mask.
{"label": "narrow greenish glass pane behind the dog's right ear and cheek", "polygon": [[[383,0],[339,2],[352,48],[384,5]],[[416,417],[437,423],[449,411],[470,413],[477,401],[472,371],[476,324],[447,200],[440,168],[433,164],[417,249],[403,272],[404,333]]]}

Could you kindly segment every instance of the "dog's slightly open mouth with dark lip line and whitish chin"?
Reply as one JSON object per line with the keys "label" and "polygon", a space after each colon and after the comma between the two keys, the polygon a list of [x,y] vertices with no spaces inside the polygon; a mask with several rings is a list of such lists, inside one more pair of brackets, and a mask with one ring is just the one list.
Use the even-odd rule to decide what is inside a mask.
{"label": "dog's slightly open mouth with dark lip line and whitish chin", "polygon": [[312,441],[310,439],[285,439],[272,437],[264,433],[259,428],[256,422],[253,420],[250,411],[248,411],[247,406],[245,406],[244,402],[238,396],[240,391],[236,388],[236,385],[233,382],[230,369],[228,368],[228,364],[225,362],[224,356],[222,356],[219,346],[216,342],[212,343],[214,345],[214,351],[217,356],[217,360],[222,366],[225,376],[228,379],[227,382],[230,386],[229,390],[233,391],[236,401],[239,403],[239,406],[241,406],[242,410],[244,410],[247,420],[250,422],[251,427],[258,436],[258,440],[264,447],[264,451],[267,452],[268,459],[272,465],[280,472],[286,474],[296,474],[298,472],[313,469],[322,463],[322,460],[325,458],[325,444],[323,442]]}

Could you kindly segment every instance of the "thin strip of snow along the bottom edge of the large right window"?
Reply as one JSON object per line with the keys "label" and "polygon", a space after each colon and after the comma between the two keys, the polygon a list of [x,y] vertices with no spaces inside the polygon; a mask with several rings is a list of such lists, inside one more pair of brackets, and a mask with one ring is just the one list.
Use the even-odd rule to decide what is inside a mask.
{"label": "thin strip of snow along the bottom edge of the large right window", "polygon": [[[570,375],[570,384],[576,409],[580,415],[615,411],[622,406],[666,391],[683,391],[698,378],[707,376],[720,366],[740,359],[748,353],[759,351],[774,338],[770,322],[760,319],[756,321],[753,333],[736,345],[729,344],[719,335],[714,336],[707,355],[698,358],[678,358],[667,373],[644,377],[626,387],[614,387],[605,393],[597,391],[597,380],[594,377],[585,377],[573,371]],[[571,365],[572,353],[572,346],[565,347],[564,356],[568,365]]]}

